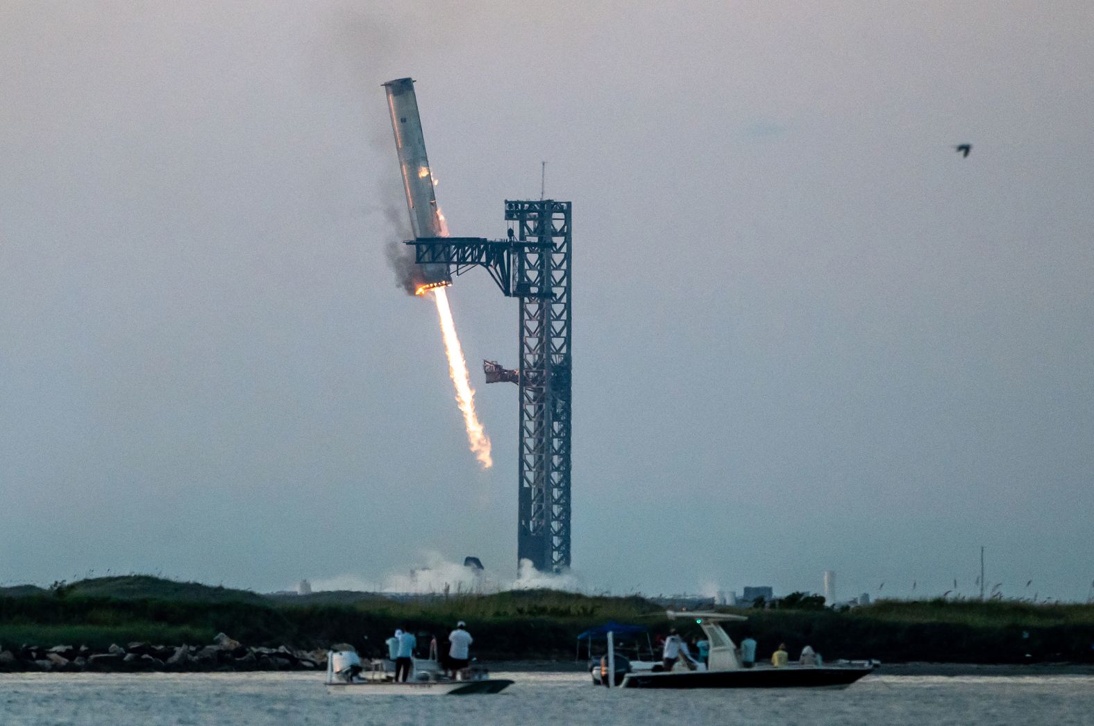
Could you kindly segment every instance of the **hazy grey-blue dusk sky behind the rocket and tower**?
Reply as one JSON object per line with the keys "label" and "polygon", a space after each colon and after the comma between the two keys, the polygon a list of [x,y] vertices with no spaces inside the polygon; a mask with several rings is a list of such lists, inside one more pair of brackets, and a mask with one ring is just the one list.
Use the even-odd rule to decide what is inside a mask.
{"label": "hazy grey-blue dusk sky behind the rocket and tower", "polygon": [[540,160],[573,201],[583,587],[973,594],[985,544],[1005,594],[1086,599],[1091,27],[1063,0],[3,3],[0,581],[515,574],[516,390],[477,373],[515,363],[515,302],[451,295],[482,472],[384,262],[380,84],[411,75],[453,234],[503,235]]}

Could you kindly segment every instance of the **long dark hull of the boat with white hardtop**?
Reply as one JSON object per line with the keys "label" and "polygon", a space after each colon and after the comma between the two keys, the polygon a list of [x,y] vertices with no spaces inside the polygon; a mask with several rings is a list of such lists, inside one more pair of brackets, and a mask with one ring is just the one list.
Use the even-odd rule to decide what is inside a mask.
{"label": "long dark hull of the boat with white hardtop", "polygon": [[872,667],[741,668],[627,674],[621,688],[847,688]]}

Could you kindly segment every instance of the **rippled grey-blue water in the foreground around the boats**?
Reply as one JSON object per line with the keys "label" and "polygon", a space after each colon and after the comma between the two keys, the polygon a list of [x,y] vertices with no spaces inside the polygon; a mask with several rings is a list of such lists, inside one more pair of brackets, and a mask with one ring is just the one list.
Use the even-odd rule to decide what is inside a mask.
{"label": "rippled grey-blue water in the foreground around the boats", "polygon": [[608,691],[497,674],[498,695],[328,695],[307,674],[0,675],[0,724],[1094,724],[1094,677],[869,676],[845,691]]}

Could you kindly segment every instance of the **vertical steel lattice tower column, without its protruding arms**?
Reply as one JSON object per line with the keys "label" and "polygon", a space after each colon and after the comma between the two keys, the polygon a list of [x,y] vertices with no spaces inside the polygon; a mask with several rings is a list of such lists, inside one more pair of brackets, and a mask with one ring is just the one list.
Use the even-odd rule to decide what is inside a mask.
{"label": "vertical steel lattice tower column, without its protruding arms", "polygon": [[570,202],[505,201],[521,246],[517,559],[570,566]]}

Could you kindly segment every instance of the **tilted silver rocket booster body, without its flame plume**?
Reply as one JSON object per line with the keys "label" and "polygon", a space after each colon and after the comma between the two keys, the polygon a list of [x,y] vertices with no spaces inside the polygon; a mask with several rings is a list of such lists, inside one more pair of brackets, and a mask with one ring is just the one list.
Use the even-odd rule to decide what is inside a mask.
{"label": "tilted silver rocket booster body, without its flame plume", "polygon": [[[418,116],[418,99],[414,93],[414,80],[400,78],[384,84],[387,91],[387,108],[392,114],[392,130],[395,132],[395,149],[403,171],[403,188],[410,212],[410,229],[417,237],[446,236],[441,210],[437,207],[433,192],[433,175],[426,156],[426,138]],[[418,266],[421,280],[417,283],[419,294],[431,288],[452,284],[449,266],[430,262]]]}

